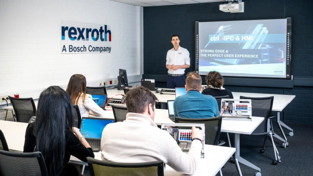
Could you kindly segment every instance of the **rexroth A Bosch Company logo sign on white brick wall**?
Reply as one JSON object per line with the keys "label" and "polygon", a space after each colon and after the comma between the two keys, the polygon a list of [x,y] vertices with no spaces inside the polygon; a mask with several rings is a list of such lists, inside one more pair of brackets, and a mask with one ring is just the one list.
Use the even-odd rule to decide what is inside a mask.
{"label": "rexroth A Bosch Company logo sign on white brick wall", "polygon": [[111,53],[112,31],[107,24],[61,21],[61,53]]}

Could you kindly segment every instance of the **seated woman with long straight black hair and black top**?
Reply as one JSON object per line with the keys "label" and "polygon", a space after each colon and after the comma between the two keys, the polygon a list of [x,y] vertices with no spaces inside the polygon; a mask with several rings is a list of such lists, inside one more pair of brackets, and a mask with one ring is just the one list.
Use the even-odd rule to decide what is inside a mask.
{"label": "seated woman with long straight black hair and black top", "polygon": [[[28,124],[23,152],[41,152],[49,176],[78,176],[70,155],[87,162],[94,157],[79,129],[73,128],[74,111],[65,90],[57,86],[45,89],[39,97],[36,121]],[[75,133],[75,134],[74,134]]]}

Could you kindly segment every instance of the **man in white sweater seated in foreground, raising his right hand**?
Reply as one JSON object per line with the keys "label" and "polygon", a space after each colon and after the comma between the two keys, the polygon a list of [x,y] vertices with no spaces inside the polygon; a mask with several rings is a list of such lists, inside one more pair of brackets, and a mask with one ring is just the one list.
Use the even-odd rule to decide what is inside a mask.
{"label": "man in white sweater seated in foreground, raising his right hand", "polygon": [[178,172],[192,175],[201,155],[203,132],[192,128],[191,148],[181,151],[173,137],[157,128],[155,119],[156,96],[147,88],[137,87],[126,94],[128,114],[123,122],[106,126],[101,138],[102,160],[138,163],[162,160]]}

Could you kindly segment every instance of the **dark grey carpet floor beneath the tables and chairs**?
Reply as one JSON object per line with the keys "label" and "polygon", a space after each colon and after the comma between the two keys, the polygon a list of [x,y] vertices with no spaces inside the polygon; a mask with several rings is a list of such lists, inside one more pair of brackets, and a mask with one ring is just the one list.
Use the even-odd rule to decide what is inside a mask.
{"label": "dark grey carpet floor beneath the tables and chairs", "polygon": [[[0,120],[4,120],[5,114],[6,110],[0,110]],[[7,120],[14,121],[12,111],[8,111]],[[274,132],[282,136],[278,131],[276,123],[273,123],[273,125]],[[313,125],[287,125],[294,132],[293,136],[287,136],[289,147],[286,149],[282,148],[282,142],[274,138],[279,155],[281,156],[281,163],[277,165],[272,164],[274,150],[269,140],[267,141],[265,153],[259,153],[260,149],[262,149],[264,136],[240,135],[241,156],[261,168],[262,176],[313,176]],[[289,132],[285,128],[283,130],[286,133]],[[230,134],[230,138],[232,142],[233,135]],[[228,144],[226,143],[226,145]],[[243,176],[253,176],[256,171],[243,164],[240,164],[240,167]],[[223,176],[237,176],[236,167],[231,162],[225,164],[222,172]],[[219,175],[217,174],[217,176]],[[84,176],[90,176],[88,167],[85,169]]]}

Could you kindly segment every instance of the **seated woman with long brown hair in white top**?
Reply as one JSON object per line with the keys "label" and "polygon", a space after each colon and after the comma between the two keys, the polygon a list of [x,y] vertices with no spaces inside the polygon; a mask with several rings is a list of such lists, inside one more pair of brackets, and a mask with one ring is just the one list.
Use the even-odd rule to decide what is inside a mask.
{"label": "seated woman with long brown hair in white top", "polygon": [[84,75],[74,74],[70,77],[67,93],[73,105],[78,105],[82,117],[88,117],[89,113],[95,116],[105,116],[104,110],[92,100],[92,96],[86,94],[86,86],[86,77]]}

